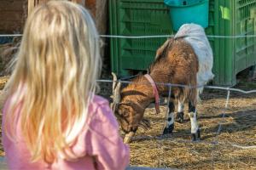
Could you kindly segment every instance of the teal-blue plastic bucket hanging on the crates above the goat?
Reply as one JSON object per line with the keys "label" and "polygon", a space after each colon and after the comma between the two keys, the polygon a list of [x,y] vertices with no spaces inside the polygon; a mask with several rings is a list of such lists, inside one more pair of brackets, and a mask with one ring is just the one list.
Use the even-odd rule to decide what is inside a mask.
{"label": "teal-blue plastic bucket hanging on the crates above the goat", "polygon": [[170,7],[174,31],[190,23],[208,27],[209,0],[165,0],[165,3]]}

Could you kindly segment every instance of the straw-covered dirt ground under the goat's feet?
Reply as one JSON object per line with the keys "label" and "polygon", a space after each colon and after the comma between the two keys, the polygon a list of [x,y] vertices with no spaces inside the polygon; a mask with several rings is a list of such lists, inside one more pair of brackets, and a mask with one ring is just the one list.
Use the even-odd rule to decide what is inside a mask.
{"label": "straw-covered dirt ground under the goat's feet", "polygon": [[[0,78],[0,88],[7,77]],[[101,83],[101,95],[109,97],[112,85]],[[240,82],[236,88],[256,89],[256,81]],[[1,92],[0,92],[1,93]],[[2,94],[0,94],[2,95]],[[256,169],[256,94],[232,92],[227,111],[226,91],[205,89],[198,105],[201,142],[190,142],[190,122],[175,124],[172,136],[161,136],[165,126],[166,105],[155,115],[145,112],[151,122],[147,131],[139,128],[131,147],[131,165],[179,169]],[[1,101],[0,101],[1,102]],[[2,108],[2,105],[0,105]],[[185,106],[187,111],[188,107]],[[221,123],[221,131],[218,128]],[[0,156],[4,156],[0,144]]]}

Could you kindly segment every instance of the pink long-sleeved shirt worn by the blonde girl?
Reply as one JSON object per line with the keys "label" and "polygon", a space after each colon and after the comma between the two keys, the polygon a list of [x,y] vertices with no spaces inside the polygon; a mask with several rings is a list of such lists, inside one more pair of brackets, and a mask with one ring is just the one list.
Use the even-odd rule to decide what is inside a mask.
{"label": "pink long-sleeved shirt worn by the blonde girl", "polygon": [[[3,122],[8,107],[9,99],[3,108]],[[53,164],[47,164],[44,161],[31,163],[29,161],[30,153],[22,139],[20,130],[18,129],[15,143],[9,140],[3,130],[3,149],[9,169],[125,169],[129,164],[130,149],[119,137],[118,123],[106,99],[95,96],[89,106],[88,120],[88,125],[84,126],[84,130],[79,134],[76,144],[72,147],[79,159],[77,161],[58,159]]]}

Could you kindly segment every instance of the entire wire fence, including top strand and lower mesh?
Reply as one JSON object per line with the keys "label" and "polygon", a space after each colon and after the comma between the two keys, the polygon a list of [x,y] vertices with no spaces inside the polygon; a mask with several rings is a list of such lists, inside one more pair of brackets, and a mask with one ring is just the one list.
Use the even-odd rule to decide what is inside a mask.
{"label": "entire wire fence, including top strand and lower mesh", "polygon": [[[0,35],[0,37],[22,37],[22,34],[14,34],[14,35]],[[173,35],[156,35],[156,36],[114,36],[114,35],[100,35],[100,37],[109,37],[109,38],[132,38],[132,39],[141,39],[141,38],[156,38],[156,37],[173,37]],[[207,37],[213,37],[213,38],[244,38],[244,37],[256,37],[256,35],[239,35],[239,36],[213,36],[213,35],[208,35]],[[132,76],[132,77],[125,77],[120,79],[118,82],[124,83],[124,84],[130,84],[130,83],[138,83],[138,82],[132,82],[130,81],[131,78],[134,78],[136,76]],[[101,83],[112,83],[112,80],[97,80],[97,82],[101,82]],[[150,83],[148,82],[147,84],[150,85]],[[200,141],[196,141],[196,142],[192,142],[191,140],[188,139],[175,139],[175,138],[170,138],[170,136],[165,136],[165,135],[157,135],[157,136],[137,136],[135,137],[135,139],[155,139],[158,141],[160,150],[162,152],[164,152],[165,150],[163,150],[164,148],[164,144],[161,142],[162,139],[168,139],[169,141],[175,141],[178,143],[183,143],[183,144],[210,144],[212,145],[212,169],[214,169],[214,159],[216,158],[214,152],[216,150],[216,147],[218,146],[218,144],[221,144],[223,146],[226,147],[233,147],[233,148],[237,148],[237,149],[241,149],[241,150],[253,150],[256,149],[256,145],[241,145],[241,144],[235,144],[232,142],[220,142],[218,141],[218,137],[222,132],[223,129],[223,124],[225,122],[225,116],[226,116],[226,112],[229,109],[229,104],[230,104],[230,94],[231,93],[240,93],[240,94],[256,94],[256,89],[253,90],[249,90],[249,91],[245,91],[242,89],[238,89],[238,88],[224,88],[224,87],[218,87],[218,86],[206,86],[206,85],[199,85],[199,86],[188,86],[188,85],[181,85],[181,84],[172,84],[172,83],[163,83],[163,82],[155,82],[156,85],[160,85],[160,86],[166,86],[169,90],[168,90],[168,98],[167,98],[167,108],[168,108],[168,103],[170,102],[171,99],[171,94],[172,94],[172,88],[174,87],[179,87],[179,88],[209,88],[209,89],[216,89],[216,90],[224,90],[227,94],[225,95],[225,105],[224,105],[224,110],[222,111],[222,116],[221,116],[221,120],[218,122],[218,128],[216,131],[216,136],[212,141],[204,141],[204,140],[200,140]],[[150,85],[151,86],[151,85]],[[168,115],[168,111],[166,111],[166,117]],[[165,126],[165,123],[163,123],[163,126]],[[250,139],[250,142],[256,142],[252,141]],[[162,161],[165,161],[164,157],[160,157],[159,160],[159,166],[162,167]]]}

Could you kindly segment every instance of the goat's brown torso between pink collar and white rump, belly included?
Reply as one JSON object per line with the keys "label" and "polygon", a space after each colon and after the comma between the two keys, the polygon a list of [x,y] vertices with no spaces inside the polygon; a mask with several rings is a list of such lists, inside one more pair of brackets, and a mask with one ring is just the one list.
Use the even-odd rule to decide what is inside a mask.
{"label": "goat's brown torso between pink collar and white rump, belly included", "polygon": [[[198,67],[198,59],[189,43],[183,38],[171,38],[157,51],[156,59],[149,72],[155,82],[196,86]],[[158,88],[163,92],[162,95],[168,94],[168,88],[164,86],[158,86]],[[189,88],[174,87],[172,94],[175,98],[185,100],[195,96],[195,88],[189,90]]]}

